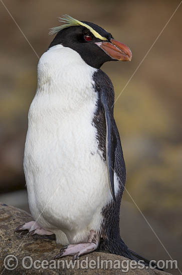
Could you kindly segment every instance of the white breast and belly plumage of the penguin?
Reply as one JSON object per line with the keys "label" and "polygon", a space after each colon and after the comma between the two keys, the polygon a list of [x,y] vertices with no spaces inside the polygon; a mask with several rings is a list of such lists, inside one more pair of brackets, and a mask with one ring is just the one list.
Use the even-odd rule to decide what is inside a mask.
{"label": "white breast and belly plumage of the penguin", "polygon": [[102,208],[112,199],[92,124],[94,71],[73,49],[53,46],[39,61],[29,110],[24,170],[30,210],[62,244],[99,231]]}

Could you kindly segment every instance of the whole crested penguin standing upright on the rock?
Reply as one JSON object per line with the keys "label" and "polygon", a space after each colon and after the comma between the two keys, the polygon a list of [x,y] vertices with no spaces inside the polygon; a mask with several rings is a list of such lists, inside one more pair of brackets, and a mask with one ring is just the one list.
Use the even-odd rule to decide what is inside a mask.
{"label": "whole crested penguin standing upright on the rock", "polygon": [[131,51],[94,23],[69,15],[60,21],[39,60],[29,110],[24,171],[35,221],[15,231],[55,234],[65,245],[55,258],[99,249],[148,264],[120,237],[126,171],[113,85],[100,69],[106,61],[130,61]]}

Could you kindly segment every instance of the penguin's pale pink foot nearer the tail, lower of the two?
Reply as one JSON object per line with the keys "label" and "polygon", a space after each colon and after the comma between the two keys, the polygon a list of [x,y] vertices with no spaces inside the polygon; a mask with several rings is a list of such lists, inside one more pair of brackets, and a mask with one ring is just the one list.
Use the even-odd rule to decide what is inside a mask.
{"label": "penguin's pale pink foot nearer the tail, lower of the two", "polygon": [[88,242],[69,244],[63,246],[54,259],[58,259],[64,256],[73,255],[73,260],[77,259],[79,256],[90,253],[97,249],[100,241],[100,235],[96,234],[95,231],[91,230],[88,237]]}

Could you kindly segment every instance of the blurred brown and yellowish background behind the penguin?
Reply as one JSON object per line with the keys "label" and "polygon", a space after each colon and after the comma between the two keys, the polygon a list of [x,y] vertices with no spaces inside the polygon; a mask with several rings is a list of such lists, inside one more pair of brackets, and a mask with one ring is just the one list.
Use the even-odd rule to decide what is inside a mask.
{"label": "blurred brown and yellowish background behind the penguin", "polygon": [[[127,44],[132,62],[108,62],[116,97],[179,4],[179,0],[4,0],[39,56],[57,17],[69,14],[101,25]],[[38,57],[0,2],[0,201],[29,211],[23,156],[28,110],[37,86]],[[148,258],[178,259],[181,268],[182,5],[115,103],[127,167],[121,235]],[[137,205],[137,206],[136,206]],[[165,246],[162,246],[142,214]],[[0,225],[1,226],[1,225]],[[172,271],[179,274],[179,271]]]}

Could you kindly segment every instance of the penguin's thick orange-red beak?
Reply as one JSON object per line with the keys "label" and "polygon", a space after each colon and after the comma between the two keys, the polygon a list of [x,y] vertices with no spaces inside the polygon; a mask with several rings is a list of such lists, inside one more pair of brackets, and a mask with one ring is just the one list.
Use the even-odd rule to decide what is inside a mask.
{"label": "penguin's thick orange-red beak", "polygon": [[130,48],[115,39],[110,39],[110,42],[96,42],[95,44],[113,59],[131,61],[132,53]]}

